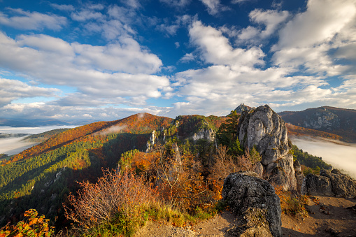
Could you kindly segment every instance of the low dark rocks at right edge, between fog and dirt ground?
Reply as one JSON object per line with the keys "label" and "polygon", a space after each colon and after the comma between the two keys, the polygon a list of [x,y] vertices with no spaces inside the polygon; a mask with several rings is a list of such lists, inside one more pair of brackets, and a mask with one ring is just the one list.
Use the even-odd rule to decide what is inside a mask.
{"label": "low dark rocks at right edge, between fog and dirt ground", "polygon": [[320,175],[308,174],[301,187],[302,194],[356,197],[356,180],[339,170],[321,170]]}

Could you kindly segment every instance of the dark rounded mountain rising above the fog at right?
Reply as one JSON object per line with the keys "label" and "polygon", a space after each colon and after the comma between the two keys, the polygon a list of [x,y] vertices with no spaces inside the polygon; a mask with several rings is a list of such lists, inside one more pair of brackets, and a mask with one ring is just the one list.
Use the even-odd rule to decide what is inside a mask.
{"label": "dark rounded mountain rising above the fog at right", "polygon": [[278,113],[285,122],[341,136],[342,141],[356,143],[356,110],[322,106],[303,111]]}

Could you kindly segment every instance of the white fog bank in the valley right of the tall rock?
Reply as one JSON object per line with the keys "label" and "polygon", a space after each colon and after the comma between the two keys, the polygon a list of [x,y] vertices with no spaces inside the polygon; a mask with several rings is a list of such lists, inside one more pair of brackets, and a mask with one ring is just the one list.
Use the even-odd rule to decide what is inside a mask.
{"label": "white fog bank in the valley right of the tall rock", "polygon": [[356,178],[356,144],[325,141],[314,138],[291,138],[299,149],[339,168]]}

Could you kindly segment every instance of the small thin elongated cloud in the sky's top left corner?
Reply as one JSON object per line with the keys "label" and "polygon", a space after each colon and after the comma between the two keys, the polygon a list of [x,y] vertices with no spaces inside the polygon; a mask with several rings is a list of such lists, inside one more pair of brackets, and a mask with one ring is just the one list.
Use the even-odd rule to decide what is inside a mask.
{"label": "small thin elongated cloud in the sky's top left corner", "polygon": [[0,12],[0,24],[14,27],[16,29],[42,30],[45,28],[60,30],[67,24],[66,17],[54,14],[43,14],[37,12],[24,11],[22,9],[7,8],[15,16],[8,17]]}

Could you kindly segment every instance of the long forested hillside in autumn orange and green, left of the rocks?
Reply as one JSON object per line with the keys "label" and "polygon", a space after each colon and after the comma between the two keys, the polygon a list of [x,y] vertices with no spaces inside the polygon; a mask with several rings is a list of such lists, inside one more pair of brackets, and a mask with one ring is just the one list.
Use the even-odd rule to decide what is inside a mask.
{"label": "long forested hillside in autumn orange and green, left of the rocks", "polygon": [[152,134],[166,141],[214,136],[223,121],[215,116],[186,115],[173,120],[141,113],[51,135],[1,163],[0,224],[15,222],[29,208],[63,224],[66,196],[76,192],[78,182],[97,182],[102,169],[116,168],[124,152],[145,152]]}

